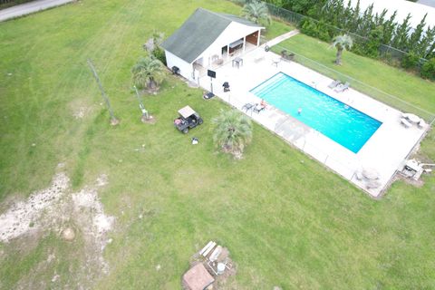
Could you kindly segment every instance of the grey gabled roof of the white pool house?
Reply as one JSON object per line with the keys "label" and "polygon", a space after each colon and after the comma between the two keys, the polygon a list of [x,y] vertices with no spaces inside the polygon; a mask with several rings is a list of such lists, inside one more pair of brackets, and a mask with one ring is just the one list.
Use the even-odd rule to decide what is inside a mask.
{"label": "grey gabled roof of the white pool house", "polygon": [[193,63],[233,21],[261,27],[236,15],[218,14],[198,8],[174,34],[161,43],[161,47],[185,62]]}

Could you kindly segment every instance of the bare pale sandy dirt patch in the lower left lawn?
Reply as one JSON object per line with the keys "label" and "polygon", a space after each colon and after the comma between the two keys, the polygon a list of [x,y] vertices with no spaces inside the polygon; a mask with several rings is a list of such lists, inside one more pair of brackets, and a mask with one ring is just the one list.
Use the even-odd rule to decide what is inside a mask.
{"label": "bare pale sandy dirt patch in the lower left lawn", "polygon": [[[36,247],[41,238],[50,233],[63,239],[65,231],[69,232],[71,238],[65,243],[75,243],[77,253],[83,256],[78,270],[81,273],[74,273],[73,276],[77,277],[76,282],[80,285],[92,285],[92,281],[109,272],[103,250],[111,243],[108,233],[114,226],[115,218],[104,213],[98,197],[98,190],[107,184],[108,177],[101,175],[94,185],[72,192],[70,179],[63,172],[57,173],[50,187],[35,191],[26,200],[12,203],[0,215],[0,242],[5,245],[11,243],[11,247],[15,244],[18,247],[34,244],[32,247]],[[80,235],[79,239],[77,235]],[[53,258],[48,256],[47,260],[52,261]],[[28,277],[24,277],[18,286],[25,288],[31,285],[31,277],[46,270],[46,266],[41,265],[47,263],[43,262],[31,269]],[[61,278],[54,273],[51,281],[58,283]],[[71,281],[70,277],[68,279]]]}

